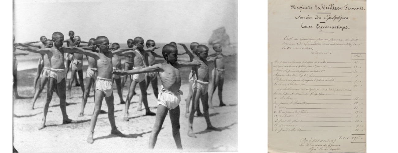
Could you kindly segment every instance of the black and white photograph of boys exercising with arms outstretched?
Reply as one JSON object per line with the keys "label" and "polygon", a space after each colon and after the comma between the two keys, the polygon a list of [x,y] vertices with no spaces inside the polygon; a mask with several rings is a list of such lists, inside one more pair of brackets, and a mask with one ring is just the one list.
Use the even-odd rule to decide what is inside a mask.
{"label": "black and white photograph of boys exercising with arms outstretched", "polygon": [[13,0],[12,13],[14,152],[238,151],[238,0]]}

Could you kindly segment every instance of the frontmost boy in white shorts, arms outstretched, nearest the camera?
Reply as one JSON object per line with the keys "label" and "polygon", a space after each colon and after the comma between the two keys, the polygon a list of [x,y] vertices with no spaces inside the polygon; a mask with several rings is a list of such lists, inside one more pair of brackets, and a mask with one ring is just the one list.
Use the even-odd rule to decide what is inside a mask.
{"label": "frontmost boy in white shorts, arms outstretched, nearest the camera", "polygon": [[158,108],[156,112],[156,120],[153,126],[150,138],[149,149],[153,149],[158,138],[158,134],[162,128],[164,118],[170,110],[170,120],[173,129],[173,138],[176,142],[177,149],[182,149],[181,137],[179,134],[179,101],[183,93],[179,88],[181,87],[181,76],[178,68],[185,66],[198,66],[198,63],[177,62],[177,48],[172,45],[165,45],[162,49],[164,62],[162,64],[155,64],[146,68],[138,68],[129,71],[113,72],[117,75],[127,74],[142,74],[158,72],[160,81],[162,81],[162,90],[158,98]]}

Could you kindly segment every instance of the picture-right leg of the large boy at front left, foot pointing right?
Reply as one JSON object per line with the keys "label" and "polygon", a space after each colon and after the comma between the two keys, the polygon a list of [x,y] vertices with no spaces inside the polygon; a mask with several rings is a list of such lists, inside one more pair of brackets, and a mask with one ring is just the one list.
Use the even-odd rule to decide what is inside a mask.
{"label": "picture-right leg of the large boy at front left, foot pointing right", "polygon": [[[76,123],[76,121],[71,120],[68,118],[68,115],[66,114],[66,81],[65,78],[62,79],[59,83],[57,83],[57,89],[58,89],[58,97],[59,97],[59,107],[61,108],[62,112],[62,118],[63,122],[62,124],[68,124],[68,123]],[[52,91],[51,91],[52,95]]]}

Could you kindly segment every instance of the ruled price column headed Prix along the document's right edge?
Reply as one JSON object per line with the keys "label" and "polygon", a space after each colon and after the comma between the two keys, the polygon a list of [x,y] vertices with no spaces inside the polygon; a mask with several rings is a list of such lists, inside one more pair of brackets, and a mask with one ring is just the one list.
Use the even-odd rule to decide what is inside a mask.
{"label": "ruled price column headed Prix along the document's right edge", "polygon": [[351,143],[365,143],[366,53],[351,53]]}

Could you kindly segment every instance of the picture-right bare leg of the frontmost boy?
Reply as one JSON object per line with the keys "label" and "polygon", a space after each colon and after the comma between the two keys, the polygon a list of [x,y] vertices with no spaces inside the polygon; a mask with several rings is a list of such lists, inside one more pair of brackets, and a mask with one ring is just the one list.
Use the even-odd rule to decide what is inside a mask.
{"label": "picture-right bare leg of the frontmost boy", "polygon": [[181,136],[179,135],[179,106],[170,110],[170,120],[173,128],[173,138],[176,142],[177,149],[182,149]]}

